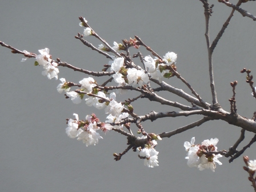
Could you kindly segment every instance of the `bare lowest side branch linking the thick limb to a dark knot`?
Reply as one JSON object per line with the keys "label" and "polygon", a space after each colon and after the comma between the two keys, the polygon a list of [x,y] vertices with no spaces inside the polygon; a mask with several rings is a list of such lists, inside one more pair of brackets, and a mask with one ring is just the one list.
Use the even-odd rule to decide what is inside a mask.
{"label": "bare lowest side branch linking the thick limb to a dark knot", "polygon": [[196,126],[201,126],[203,123],[205,123],[205,122],[207,122],[207,121],[210,121],[210,120],[213,120],[213,118],[211,118],[211,117],[203,117],[203,118],[200,119],[199,121],[190,123],[189,125],[186,125],[186,126],[183,126],[183,127],[179,127],[178,129],[173,130],[173,131],[160,133],[160,134],[158,134],[158,135],[159,135],[159,137],[161,137],[161,138],[164,138],[164,137],[170,138],[170,137],[173,136],[173,135],[182,133],[182,132],[184,132],[184,131],[186,131],[186,130],[189,130],[189,129],[192,129],[192,128],[196,127]]}

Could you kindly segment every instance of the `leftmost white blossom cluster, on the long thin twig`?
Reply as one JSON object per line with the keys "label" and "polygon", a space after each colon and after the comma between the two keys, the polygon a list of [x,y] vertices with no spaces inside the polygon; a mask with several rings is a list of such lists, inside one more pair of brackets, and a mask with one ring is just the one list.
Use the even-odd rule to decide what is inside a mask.
{"label": "leftmost white blossom cluster, on the long thin twig", "polygon": [[[38,50],[39,55],[35,57],[35,65],[43,66],[44,71],[42,75],[46,76],[48,79],[58,79],[59,69],[57,68],[58,64],[51,59],[49,54],[50,50],[48,48]],[[23,50],[25,54],[30,54],[28,51]],[[21,62],[25,62],[27,58],[23,58]]]}

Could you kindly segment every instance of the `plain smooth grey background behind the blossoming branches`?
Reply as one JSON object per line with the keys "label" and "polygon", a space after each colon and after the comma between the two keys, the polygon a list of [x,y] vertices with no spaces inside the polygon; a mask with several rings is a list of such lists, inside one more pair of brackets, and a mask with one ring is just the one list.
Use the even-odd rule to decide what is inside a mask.
{"label": "plain smooth grey background behind the blossoming branches", "polygon": [[[218,1],[210,3],[215,4],[210,21],[213,41],[231,9]],[[39,49],[48,47],[54,59],[59,57],[77,67],[101,70],[109,59],[74,38],[78,32],[83,32],[78,25],[81,15],[110,45],[138,35],[159,55],[168,51],[177,53],[178,72],[206,102],[211,103],[205,18],[199,0],[2,0],[0,5],[0,41],[8,45],[37,54]],[[256,15],[255,2],[245,3],[242,7]],[[233,95],[230,81],[237,80],[238,113],[247,118],[251,118],[256,110],[255,99],[245,82],[245,74],[239,71],[246,67],[256,74],[255,34],[256,23],[235,12],[213,59],[218,102],[225,110],[230,109],[228,99]],[[101,44],[93,37],[86,39],[95,46]],[[131,54],[137,51],[131,49]],[[140,51],[144,56],[150,54],[143,47]],[[73,118],[73,113],[83,119],[94,112],[102,121],[106,115],[86,106],[85,102],[75,105],[70,99],[65,99],[56,90],[61,81],[43,77],[42,67],[35,67],[34,59],[21,63],[22,58],[22,55],[11,54],[9,49],[0,47],[0,191],[253,191],[248,175],[242,169],[242,157],[233,163],[221,158],[223,165],[217,165],[215,173],[186,165],[185,141],[195,137],[196,143],[201,143],[204,139],[217,137],[218,149],[228,150],[240,135],[239,127],[211,121],[165,138],[156,147],[159,166],[153,169],[144,166],[138,153],[133,151],[115,162],[113,153],[121,153],[127,147],[123,135],[112,131],[106,135],[101,133],[104,139],[98,145],[86,147],[65,133],[65,119]],[[139,63],[139,60],[134,59],[134,62]],[[59,67],[59,71],[59,78],[64,77],[67,81],[78,82],[88,77],[63,67]],[[177,78],[166,82],[190,93]],[[173,94],[160,95],[188,104]],[[118,95],[118,100],[127,97]],[[133,105],[135,113],[140,115],[152,110],[178,111],[147,99]],[[202,117],[164,118],[142,125],[149,133],[161,133],[199,118]],[[137,131],[134,125],[132,129]],[[253,135],[246,133],[242,144],[247,145]],[[245,155],[256,159],[255,145]]]}

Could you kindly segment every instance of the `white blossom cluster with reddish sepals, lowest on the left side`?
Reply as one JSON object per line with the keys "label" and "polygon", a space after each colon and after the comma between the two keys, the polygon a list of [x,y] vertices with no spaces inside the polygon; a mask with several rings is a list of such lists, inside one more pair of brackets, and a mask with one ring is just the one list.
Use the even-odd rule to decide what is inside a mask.
{"label": "white blossom cluster with reddish sepals, lowest on the left side", "polygon": [[75,119],[69,119],[67,122],[66,134],[70,138],[77,138],[78,141],[82,141],[86,146],[95,145],[99,139],[103,139],[97,130],[102,130],[106,133],[111,127],[106,123],[99,123],[99,119],[95,114],[87,115],[86,120],[79,120],[78,114],[75,114]]}

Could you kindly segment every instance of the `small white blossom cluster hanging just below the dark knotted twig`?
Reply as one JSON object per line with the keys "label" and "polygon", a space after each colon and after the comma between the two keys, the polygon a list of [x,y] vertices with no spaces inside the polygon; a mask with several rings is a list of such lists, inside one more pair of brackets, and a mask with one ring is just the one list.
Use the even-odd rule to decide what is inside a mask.
{"label": "small white blossom cluster hanging just below the dark knotted twig", "polygon": [[[147,136],[142,136],[142,139],[147,138]],[[159,140],[162,140],[158,137]],[[144,159],[144,165],[147,167],[155,167],[158,165],[158,151],[155,150],[155,146],[157,145],[157,141],[153,140],[148,142],[144,148],[138,147],[137,151],[139,151],[139,157]]]}

